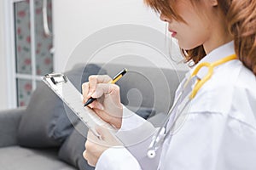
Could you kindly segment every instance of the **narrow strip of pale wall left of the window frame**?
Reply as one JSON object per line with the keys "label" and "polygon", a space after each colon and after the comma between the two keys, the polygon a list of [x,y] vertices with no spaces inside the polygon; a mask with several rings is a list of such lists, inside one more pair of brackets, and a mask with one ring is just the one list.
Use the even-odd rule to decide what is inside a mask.
{"label": "narrow strip of pale wall left of the window frame", "polygon": [[6,57],[5,45],[4,45],[4,2],[0,1],[0,110],[8,108],[7,104],[7,67],[6,67]]}

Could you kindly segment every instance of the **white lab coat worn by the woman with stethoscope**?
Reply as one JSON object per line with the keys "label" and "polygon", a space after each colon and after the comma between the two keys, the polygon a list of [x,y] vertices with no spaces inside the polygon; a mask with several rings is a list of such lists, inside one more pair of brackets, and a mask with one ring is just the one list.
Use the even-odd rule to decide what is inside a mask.
{"label": "white lab coat worn by the woman with stethoscope", "polygon": [[[201,62],[212,63],[230,54],[235,54],[234,42],[214,49]],[[200,71],[198,77],[206,71]],[[124,109],[120,132],[127,135],[123,133],[120,139],[140,137],[146,128],[154,131],[140,117],[127,116],[130,113]],[[139,127],[145,128],[137,130]],[[147,157],[150,138],[139,140],[103,152],[96,170],[255,170],[256,77],[238,59],[217,66],[192,100],[183,126],[166,139],[153,160]]]}

